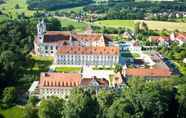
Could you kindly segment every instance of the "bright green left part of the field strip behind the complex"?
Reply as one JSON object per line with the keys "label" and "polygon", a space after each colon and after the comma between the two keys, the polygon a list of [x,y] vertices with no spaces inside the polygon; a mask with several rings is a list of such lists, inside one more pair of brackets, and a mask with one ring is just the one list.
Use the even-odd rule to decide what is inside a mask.
{"label": "bright green left part of the field strip behind the complex", "polygon": [[128,27],[131,29],[133,29],[135,25],[133,20],[100,20],[95,23],[106,27]]}

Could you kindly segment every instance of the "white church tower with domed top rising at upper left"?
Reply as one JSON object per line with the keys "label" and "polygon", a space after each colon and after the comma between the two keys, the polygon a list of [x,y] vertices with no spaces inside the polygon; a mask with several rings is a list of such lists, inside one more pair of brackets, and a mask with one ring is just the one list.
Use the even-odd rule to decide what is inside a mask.
{"label": "white church tower with domed top rising at upper left", "polygon": [[41,43],[43,43],[45,33],[46,33],[46,24],[44,22],[44,19],[42,19],[41,21],[39,20],[39,23],[37,24],[37,36]]}

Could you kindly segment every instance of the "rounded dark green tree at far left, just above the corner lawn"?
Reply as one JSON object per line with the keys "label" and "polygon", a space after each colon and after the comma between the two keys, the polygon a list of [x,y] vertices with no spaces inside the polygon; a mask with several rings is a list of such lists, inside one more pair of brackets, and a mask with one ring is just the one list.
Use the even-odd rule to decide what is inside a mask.
{"label": "rounded dark green tree at far left, just above the corner lawn", "polygon": [[16,99],[16,90],[15,87],[6,87],[3,90],[3,99],[2,102],[7,106],[10,106]]}

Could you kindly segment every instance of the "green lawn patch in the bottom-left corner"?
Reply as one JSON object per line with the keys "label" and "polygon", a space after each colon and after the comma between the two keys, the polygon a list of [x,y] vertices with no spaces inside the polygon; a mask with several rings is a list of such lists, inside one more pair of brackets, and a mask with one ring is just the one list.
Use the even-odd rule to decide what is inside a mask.
{"label": "green lawn patch in the bottom-left corner", "polygon": [[6,110],[0,109],[0,114],[3,115],[4,118],[22,118],[24,109],[18,106],[11,107]]}

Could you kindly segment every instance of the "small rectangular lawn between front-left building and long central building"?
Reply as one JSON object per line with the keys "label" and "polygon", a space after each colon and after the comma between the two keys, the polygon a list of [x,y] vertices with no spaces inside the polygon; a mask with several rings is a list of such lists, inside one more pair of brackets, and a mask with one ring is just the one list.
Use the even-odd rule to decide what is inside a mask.
{"label": "small rectangular lawn between front-left building and long central building", "polygon": [[80,72],[81,67],[56,67],[55,69],[56,72]]}

